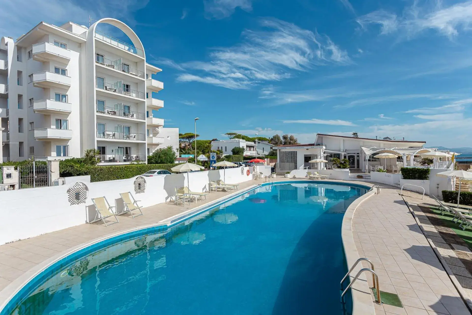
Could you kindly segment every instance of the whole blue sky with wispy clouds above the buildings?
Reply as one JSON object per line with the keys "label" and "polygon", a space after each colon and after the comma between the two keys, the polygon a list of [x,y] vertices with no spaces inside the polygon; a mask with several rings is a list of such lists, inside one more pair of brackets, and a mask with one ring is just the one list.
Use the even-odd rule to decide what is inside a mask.
{"label": "whole blue sky with wispy clouds above the buildings", "polygon": [[4,2],[1,35],[123,20],[163,69],[157,116],[181,132],[200,117],[203,139],[358,132],[472,146],[472,1]]}

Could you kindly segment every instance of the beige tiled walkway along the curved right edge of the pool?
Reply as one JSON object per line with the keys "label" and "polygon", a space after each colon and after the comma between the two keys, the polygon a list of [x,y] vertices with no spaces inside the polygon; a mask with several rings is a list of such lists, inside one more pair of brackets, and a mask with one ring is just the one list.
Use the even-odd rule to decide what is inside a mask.
{"label": "beige tiled walkway along the curved right edge of the pool", "polygon": [[359,255],[374,263],[380,290],[398,294],[404,305],[376,304],[376,315],[470,314],[397,188],[383,187],[364,201],[353,232]]}

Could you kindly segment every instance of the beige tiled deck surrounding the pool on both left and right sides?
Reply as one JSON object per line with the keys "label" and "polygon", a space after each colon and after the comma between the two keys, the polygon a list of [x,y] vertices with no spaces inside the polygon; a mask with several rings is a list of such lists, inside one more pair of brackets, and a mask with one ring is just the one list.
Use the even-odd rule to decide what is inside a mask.
{"label": "beige tiled deck surrounding the pool on both left and right sides", "polygon": [[[240,184],[239,188],[242,190],[260,183],[261,180],[251,180]],[[367,184],[357,181],[350,183]],[[212,193],[208,195],[207,202],[229,194]],[[109,227],[82,224],[1,245],[0,290],[3,291],[0,291],[0,297],[4,297],[5,291],[25,277],[27,271],[44,264],[51,257],[106,235],[155,224],[197,206],[202,206],[202,203],[185,207],[157,204],[144,208],[144,215],[135,219],[120,216],[120,222]],[[470,314],[402,197],[398,195],[398,189],[382,187],[379,195],[363,201],[354,212],[352,230],[359,255],[371,259],[375,264],[380,289],[398,294],[404,304],[404,308],[375,304],[376,315]],[[371,277],[367,279],[372,286]],[[15,283],[6,288],[13,281]]]}

